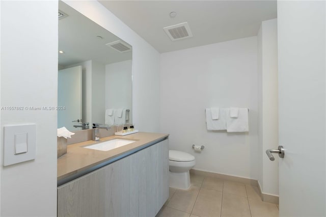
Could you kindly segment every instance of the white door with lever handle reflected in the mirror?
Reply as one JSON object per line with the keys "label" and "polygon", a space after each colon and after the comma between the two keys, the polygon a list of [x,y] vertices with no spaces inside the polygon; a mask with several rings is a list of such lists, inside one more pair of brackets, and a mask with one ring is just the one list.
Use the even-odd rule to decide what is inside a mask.
{"label": "white door with lever handle reflected in the mirror", "polygon": [[[78,122],[79,120],[79,122]],[[82,66],[58,72],[58,128],[80,130],[82,120]]]}

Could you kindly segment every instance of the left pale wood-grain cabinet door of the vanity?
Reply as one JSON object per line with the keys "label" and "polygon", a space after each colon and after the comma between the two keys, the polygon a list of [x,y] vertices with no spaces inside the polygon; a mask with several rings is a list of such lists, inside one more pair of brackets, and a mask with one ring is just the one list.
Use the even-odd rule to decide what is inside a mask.
{"label": "left pale wood-grain cabinet door of the vanity", "polygon": [[137,155],[58,187],[58,216],[138,216]]}

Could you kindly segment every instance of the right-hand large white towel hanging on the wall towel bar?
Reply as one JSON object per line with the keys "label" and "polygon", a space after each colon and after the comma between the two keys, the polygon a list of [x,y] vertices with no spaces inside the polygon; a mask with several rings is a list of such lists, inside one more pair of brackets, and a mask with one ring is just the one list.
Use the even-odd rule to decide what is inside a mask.
{"label": "right-hand large white towel hanging on the wall towel bar", "polygon": [[248,108],[239,108],[238,118],[231,118],[229,111],[226,126],[227,132],[249,132]]}

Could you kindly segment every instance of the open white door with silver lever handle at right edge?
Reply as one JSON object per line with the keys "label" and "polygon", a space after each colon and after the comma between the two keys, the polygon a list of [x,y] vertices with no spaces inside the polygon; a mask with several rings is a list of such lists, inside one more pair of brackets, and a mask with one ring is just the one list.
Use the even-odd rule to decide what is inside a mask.
{"label": "open white door with silver lever handle at right edge", "polygon": [[325,27],[325,1],[278,1],[280,216],[326,216]]}

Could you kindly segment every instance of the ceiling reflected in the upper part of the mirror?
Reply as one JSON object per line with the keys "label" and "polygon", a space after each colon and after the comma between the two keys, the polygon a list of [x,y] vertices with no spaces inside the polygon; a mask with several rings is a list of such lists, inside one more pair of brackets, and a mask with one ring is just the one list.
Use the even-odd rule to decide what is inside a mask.
{"label": "ceiling reflected in the upper part of the mirror", "polygon": [[89,60],[106,65],[132,58],[131,51],[120,53],[105,45],[119,40],[117,36],[61,1],[59,10],[68,15],[59,20],[59,50],[65,51],[59,53],[60,66]]}

